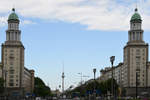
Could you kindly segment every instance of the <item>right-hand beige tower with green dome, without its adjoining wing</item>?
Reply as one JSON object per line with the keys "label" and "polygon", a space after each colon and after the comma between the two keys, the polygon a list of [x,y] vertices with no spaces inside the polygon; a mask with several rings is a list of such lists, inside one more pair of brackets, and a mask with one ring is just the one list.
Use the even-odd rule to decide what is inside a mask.
{"label": "right-hand beige tower with green dome, without its adjoining wing", "polygon": [[[130,20],[128,42],[124,47],[124,67],[122,84],[127,88],[127,95],[135,96],[147,87],[148,44],[143,40],[142,18],[135,9]],[[140,90],[136,90],[140,87]]]}

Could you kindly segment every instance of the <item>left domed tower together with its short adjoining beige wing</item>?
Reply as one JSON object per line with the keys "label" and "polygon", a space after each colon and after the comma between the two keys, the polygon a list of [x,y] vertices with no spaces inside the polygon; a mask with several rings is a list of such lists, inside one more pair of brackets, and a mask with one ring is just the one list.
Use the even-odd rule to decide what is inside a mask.
{"label": "left domed tower together with its short adjoining beige wing", "polygon": [[[24,95],[33,91],[34,71],[24,67],[24,46],[21,42],[19,30],[19,17],[12,9],[8,17],[6,41],[2,44],[2,76],[5,80],[7,95]],[[28,84],[26,84],[28,83]],[[30,86],[30,90],[27,87]]]}

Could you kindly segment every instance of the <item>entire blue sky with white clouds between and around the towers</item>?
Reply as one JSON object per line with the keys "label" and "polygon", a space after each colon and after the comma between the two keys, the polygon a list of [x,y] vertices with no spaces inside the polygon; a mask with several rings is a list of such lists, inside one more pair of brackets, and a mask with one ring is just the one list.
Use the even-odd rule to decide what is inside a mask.
{"label": "entire blue sky with white clouds between and around the towers", "polygon": [[[137,1],[145,30],[144,40],[150,43],[150,1]],[[98,77],[100,69],[110,66],[110,56],[116,56],[115,65],[123,61],[135,1],[2,0],[0,43],[5,41],[7,17],[13,5],[21,20],[25,66],[34,69],[36,76],[49,83],[52,89],[61,85],[62,62],[67,89],[80,82],[80,72],[90,76],[83,78],[87,80],[93,78],[92,69],[97,68]]]}

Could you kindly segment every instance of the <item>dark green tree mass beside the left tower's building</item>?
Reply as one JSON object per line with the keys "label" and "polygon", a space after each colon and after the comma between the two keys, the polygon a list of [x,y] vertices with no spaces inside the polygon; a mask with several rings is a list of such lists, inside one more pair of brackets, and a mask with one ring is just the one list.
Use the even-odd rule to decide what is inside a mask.
{"label": "dark green tree mass beside the left tower's building", "polygon": [[34,93],[36,94],[36,96],[50,96],[51,89],[45,85],[42,79],[40,79],[39,77],[35,77]]}

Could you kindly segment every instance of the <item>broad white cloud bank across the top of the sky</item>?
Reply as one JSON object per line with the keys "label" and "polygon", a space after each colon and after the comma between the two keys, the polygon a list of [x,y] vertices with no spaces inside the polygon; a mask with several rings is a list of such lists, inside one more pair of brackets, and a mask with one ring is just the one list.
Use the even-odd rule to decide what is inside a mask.
{"label": "broad white cloud bank across the top of the sky", "polygon": [[[86,25],[91,30],[128,30],[134,13],[132,0],[2,0],[0,14],[10,12],[15,5],[24,17],[59,20]],[[150,1],[138,0],[144,29],[149,30]],[[31,21],[26,21],[32,24]]]}

